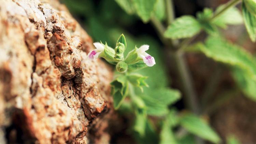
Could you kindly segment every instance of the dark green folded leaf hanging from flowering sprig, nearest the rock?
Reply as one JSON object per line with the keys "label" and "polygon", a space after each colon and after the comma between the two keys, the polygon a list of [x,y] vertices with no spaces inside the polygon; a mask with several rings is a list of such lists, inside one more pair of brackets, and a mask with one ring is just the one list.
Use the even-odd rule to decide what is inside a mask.
{"label": "dark green folded leaf hanging from flowering sprig, nearest the rock", "polygon": [[114,108],[118,109],[128,94],[128,83],[126,76],[122,75],[110,83],[112,86],[112,95],[114,101]]}

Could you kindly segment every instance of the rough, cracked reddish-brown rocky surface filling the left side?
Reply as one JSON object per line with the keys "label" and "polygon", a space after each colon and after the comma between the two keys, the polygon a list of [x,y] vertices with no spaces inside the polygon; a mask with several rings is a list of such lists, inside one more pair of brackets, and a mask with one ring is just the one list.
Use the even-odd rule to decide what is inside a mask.
{"label": "rough, cracked reddish-brown rocky surface filling the left side", "polygon": [[0,0],[0,143],[110,140],[112,73],[93,48],[57,0]]}

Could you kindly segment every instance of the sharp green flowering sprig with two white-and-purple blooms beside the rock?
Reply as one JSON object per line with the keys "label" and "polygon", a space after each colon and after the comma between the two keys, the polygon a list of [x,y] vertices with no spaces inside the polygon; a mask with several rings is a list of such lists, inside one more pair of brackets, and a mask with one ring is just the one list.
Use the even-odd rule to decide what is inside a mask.
{"label": "sharp green flowering sprig with two white-and-purple blooms beside the rock", "polygon": [[[88,58],[95,60],[98,57],[102,57],[109,63],[114,64],[116,71],[119,73],[116,74],[115,80],[111,83],[114,108],[118,109],[128,95],[132,97],[132,101],[137,107],[145,107],[143,106],[145,105],[143,101],[139,97],[133,96],[134,94],[131,91],[134,91],[133,87],[139,87],[141,91],[143,91],[142,86],[148,87],[144,81],[147,77],[132,73],[132,71],[146,66],[153,67],[156,64],[154,57],[145,52],[149,49],[149,45],[145,44],[139,48],[135,46],[126,58],[124,58],[124,52],[127,43],[124,34],[121,34],[118,38],[115,49],[108,46],[107,43],[104,45],[101,42],[95,42],[94,46],[96,49],[88,53]],[[128,89],[130,89],[130,92]]]}

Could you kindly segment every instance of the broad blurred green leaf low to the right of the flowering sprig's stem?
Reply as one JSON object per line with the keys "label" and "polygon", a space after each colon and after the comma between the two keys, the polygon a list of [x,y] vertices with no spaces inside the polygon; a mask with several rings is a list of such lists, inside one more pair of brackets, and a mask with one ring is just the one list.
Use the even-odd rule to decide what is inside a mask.
{"label": "broad blurred green leaf low to the right of the flowering sprig's stem", "polygon": [[142,99],[147,106],[148,115],[163,116],[169,112],[168,105],[180,99],[180,92],[169,88],[152,90],[147,95],[142,95]]}

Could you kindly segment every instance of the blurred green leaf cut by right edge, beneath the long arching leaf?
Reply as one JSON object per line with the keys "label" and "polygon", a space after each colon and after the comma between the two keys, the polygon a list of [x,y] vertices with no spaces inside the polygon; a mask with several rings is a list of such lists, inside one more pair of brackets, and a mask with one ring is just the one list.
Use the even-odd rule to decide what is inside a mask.
{"label": "blurred green leaf cut by right edge, beneath the long arching leaf", "polygon": [[256,101],[256,81],[239,68],[233,68],[232,75],[245,96]]}

